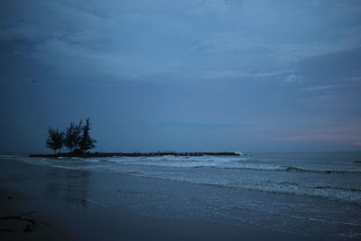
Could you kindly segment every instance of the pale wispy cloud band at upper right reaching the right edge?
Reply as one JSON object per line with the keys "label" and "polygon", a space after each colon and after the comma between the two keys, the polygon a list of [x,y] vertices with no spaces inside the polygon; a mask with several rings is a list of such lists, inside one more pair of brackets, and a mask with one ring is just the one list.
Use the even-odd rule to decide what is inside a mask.
{"label": "pale wispy cloud band at upper right reaching the right edge", "polygon": [[243,56],[260,56],[273,59],[277,64],[289,66],[308,58],[351,51],[361,47],[361,34],[335,41],[305,43],[270,43],[262,37],[250,36],[244,32],[212,33],[194,48],[211,54],[239,53]]}

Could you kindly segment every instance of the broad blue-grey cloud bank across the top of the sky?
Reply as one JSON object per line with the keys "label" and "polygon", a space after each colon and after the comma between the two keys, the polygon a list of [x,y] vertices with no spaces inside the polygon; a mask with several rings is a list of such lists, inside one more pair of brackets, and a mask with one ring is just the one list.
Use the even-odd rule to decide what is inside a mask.
{"label": "broad blue-grey cloud bank across the top of the sky", "polygon": [[[167,79],[264,79],[297,70],[301,60],[361,46],[355,24],[311,40],[292,38],[300,31],[294,26],[284,31],[288,14],[279,11],[303,7],[297,4],[223,0],[5,2],[1,5],[5,10],[0,17],[0,40],[31,42],[28,56],[67,76],[95,71],[118,79],[162,75]],[[297,24],[305,29],[335,20],[335,16],[322,14],[313,16],[321,23],[310,23],[304,14],[307,11],[300,13],[307,21]],[[276,27],[271,29],[272,24]],[[302,36],[313,35],[317,34]],[[87,66],[91,71],[84,73]],[[279,79],[283,83],[302,81],[301,74]]]}

